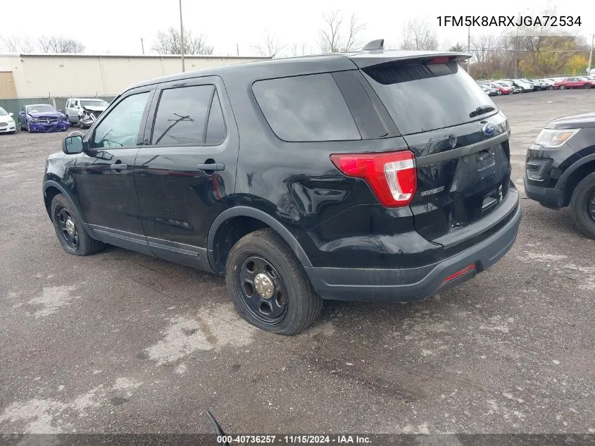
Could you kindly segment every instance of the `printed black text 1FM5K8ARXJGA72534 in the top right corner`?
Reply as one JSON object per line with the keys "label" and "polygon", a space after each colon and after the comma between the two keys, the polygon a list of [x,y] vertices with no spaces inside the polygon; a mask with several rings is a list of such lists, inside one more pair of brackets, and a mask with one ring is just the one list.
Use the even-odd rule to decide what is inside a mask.
{"label": "printed black text 1FM5K8ARXJGA72534 in the top right corner", "polygon": [[438,26],[572,27],[580,26],[580,16],[438,16]]}

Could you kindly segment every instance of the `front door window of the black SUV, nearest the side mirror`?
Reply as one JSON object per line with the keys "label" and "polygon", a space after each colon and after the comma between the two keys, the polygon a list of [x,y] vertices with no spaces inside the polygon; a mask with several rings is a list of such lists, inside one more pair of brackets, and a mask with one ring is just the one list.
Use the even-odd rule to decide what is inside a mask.
{"label": "front door window of the black SUV, nearest the side mirror", "polygon": [[97,126],[92,147],[136,146],[148,98],[149,93],[146,92],[122,99]]}

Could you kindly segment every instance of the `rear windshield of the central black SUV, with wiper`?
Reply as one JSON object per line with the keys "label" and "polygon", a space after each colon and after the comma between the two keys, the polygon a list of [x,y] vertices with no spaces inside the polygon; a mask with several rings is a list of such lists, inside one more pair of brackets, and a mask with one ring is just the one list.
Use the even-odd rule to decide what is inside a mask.
{"label": "rear windshield of the central black SUV, with wiper", "polygon": [[[387,63],[363,72],[402,135],[468,123],[498,110],[457,63]],[[473,116],[480,106],[493,106],[494,112]]]}

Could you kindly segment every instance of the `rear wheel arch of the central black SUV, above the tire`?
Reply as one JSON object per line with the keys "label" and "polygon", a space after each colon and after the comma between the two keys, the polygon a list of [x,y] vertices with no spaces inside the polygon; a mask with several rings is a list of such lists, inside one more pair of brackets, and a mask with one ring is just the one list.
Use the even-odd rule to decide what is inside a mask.
{"label": "rear wheel arch of the central black SUV, above the tire", "polygon": [[[240,225],[241,228],[239,228],[239,230],[234,230],[234,236],[228,238],[227,243],[222,243],[222,237],[225,239],[227,229],[233,230],[233,228],[238,228],[235,223]],[[260,209],[251,208],[249,206],[234,206],[220,213],[217,218],[215,218],[215,221],[213,221],[213,224],[211,225],[211,229],[208,231],[206,244],[207,255],[208,262],[211,264],[213,271],[216,273],[223,273],[223,271],[225,271],[225,259],[227,259],[229,249],[231,249],[233,244],[235,244],[239,238],[254,230],[267,227],[275,230],[275,232],[283,238],[294,254],[296,254],[296,257],[302,266],[312,266],[311,261],[308,259],[301,244],[299,244],[296,237],[294,237],[294,235],[289,232],[280,221]]]}

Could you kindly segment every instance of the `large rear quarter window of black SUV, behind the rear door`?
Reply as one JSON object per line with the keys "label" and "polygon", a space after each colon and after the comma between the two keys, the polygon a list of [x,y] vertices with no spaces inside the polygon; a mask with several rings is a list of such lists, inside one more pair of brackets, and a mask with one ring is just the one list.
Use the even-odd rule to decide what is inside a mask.
{"label": "large rear quarter window of black SUV, behind the rear door", "polygon": [[261,80],[252,89],[270,128],[284,141],[361,140],[330,73]]}

